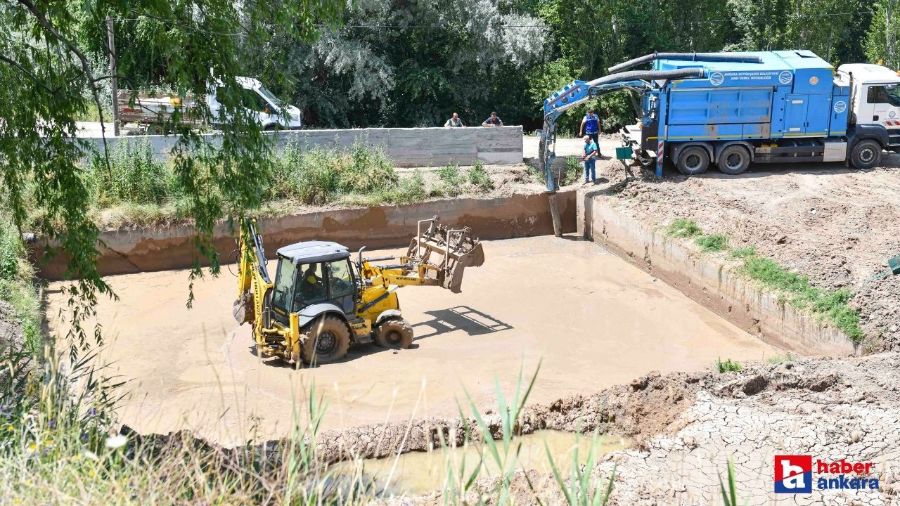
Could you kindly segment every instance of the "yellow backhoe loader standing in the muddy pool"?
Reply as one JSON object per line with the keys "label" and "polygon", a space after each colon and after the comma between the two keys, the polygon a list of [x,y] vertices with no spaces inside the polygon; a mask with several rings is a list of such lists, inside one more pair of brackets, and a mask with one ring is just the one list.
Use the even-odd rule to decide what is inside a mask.
{"label": "yellow backhoe loader standing in the muddy pool", "polygon": [[[353,344],[409,348],[412,326],[403,320],[396,290],[437,285],[459,293],[465,267],[479,267],[484,252],[468,227],[452,230],[439,217],[419,221],[399,263],[374,262],[336,242],[309,240],[279,248],[275,279],[266,267],[263,237],[247,220],[238,237],[238,300],[233,314],[250,323],[257,350],[294,364],[339,360]],[[424,230],[423,230],[424,228]]]}

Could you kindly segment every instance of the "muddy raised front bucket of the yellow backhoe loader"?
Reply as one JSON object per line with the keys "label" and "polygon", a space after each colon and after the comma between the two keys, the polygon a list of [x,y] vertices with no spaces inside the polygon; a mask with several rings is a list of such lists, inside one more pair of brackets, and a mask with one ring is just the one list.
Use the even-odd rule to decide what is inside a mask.
{"label": "muddy raised front bucket of the yellow backhoe loader", "polygon": [[[425,267],[425,274],[434,274],[437,283],[454,294],[463,286],[465,267],[481,267],[484,264],[482,242],[472,236],[469,227],[449,229],[438,223],[440,218],[419,221],[419,234],[412,239],[406,257]],[[422,223],[430,221],[427,230]],[[437,254],[437,257],[432,257]]]}

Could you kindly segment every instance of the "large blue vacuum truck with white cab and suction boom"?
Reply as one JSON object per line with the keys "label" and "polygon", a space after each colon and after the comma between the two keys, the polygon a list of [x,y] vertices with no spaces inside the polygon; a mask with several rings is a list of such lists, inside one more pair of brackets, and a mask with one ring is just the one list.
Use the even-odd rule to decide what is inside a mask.
{"label": "large blue vacuum truck with white cab and suction boom", "polygon": [[[652,70],[626,68],[653,62]],[[870,64],[835,72],[808,50],[740,53],[654,53],[574,81],[545,100],[545,145],[555,120],[592,97],[618,90],[640,95],[637,122],[623,130],[626,146],[662,176],[665,158],[682,174],[716,165],[738,175],[752,163],[842,161],[878,165],[882,151],[900,151],[900,77]],[[552,149],[545,149],[548,189]]]}

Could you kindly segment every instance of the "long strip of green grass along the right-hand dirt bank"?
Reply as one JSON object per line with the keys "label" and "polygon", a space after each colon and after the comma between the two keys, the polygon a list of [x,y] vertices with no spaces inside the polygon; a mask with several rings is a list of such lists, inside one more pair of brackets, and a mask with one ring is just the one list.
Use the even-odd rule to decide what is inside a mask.
{"label": "long strip of green grass along the right-hand dirt bank", "polygon": [[[745,248],[745,253],[750,248]],[[735,250],[732,250],[734,255]],[[738,258],[738,257],[734,257]],[[826,290],[813,286],[809,278],[790,271],[771,258],[757,255],[755,249],[743,255],[741,272],[766,287],[788,294],[788,303],[814,313],[841,330],[853,342],[865,334],[860,329],[860,312],[851,308],[853,294],[846,288]]]}

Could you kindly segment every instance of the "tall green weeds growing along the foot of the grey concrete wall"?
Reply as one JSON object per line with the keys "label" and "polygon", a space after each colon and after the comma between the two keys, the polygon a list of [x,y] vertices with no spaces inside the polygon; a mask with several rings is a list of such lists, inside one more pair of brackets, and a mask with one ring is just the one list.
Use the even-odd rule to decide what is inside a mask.
{"label": "tall green weeds growing along the foot of the grey concrete wall", "polygon": [[[100,155],[88,158],[85,167],[98,221],[107,227],[121,227],[185,219],[190,202],[178,189],[171,165],[156,160],[149,140],[123,138],[112,144],[109,153],[109,169]],[[199,177],[209,173],[208,167],[197,170]],[[308,148],[293,141],[272,160],[258,212],[283,214],[292,203],[413,203],[494,188],[480,160],[468,171],[448,164],[437,170],[437,176],[439,183],[428,191],[421,172],[401,177],[383,148],[362,140],[348,149]],[[211,192],[216,191],[213,185]],[[40,219],[37,212],[34,219]]]}

